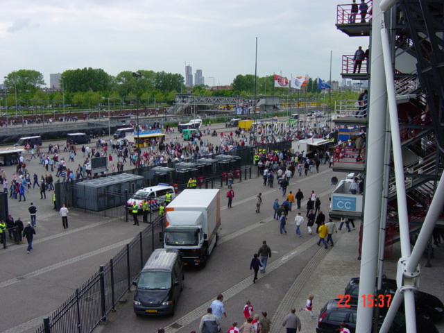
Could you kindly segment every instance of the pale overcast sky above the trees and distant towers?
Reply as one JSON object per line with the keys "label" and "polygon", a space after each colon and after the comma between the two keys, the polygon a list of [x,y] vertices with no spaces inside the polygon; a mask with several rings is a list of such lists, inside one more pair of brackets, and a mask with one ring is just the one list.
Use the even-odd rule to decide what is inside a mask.
{"label": "pale overcast sky above the trees and distant towers", "polygon": [[0,75],[83,67],[108,74],[147,69],[179,73],[185,62],[230,85],[238,74],[330,76],[368,37],[336,29],[333,0],[2,0]]}

